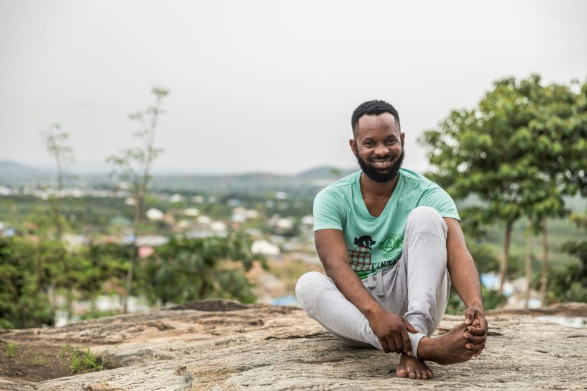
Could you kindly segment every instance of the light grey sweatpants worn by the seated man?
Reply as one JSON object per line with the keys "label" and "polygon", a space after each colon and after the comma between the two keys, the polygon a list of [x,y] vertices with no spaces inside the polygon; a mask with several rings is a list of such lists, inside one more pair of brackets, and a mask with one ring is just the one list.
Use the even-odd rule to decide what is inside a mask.
{"label": "light grey sweatpants worn by the seated man", "polygon": [[[416,327],[417,334],[408,332],[416,357],[421,338],[432,335],[446,309],[450,292],[446,234],[446,223],[436,209],[414,209],[407,219],[398,263],[363,280],[365,289],[383,308],[403,316]],[[343,343],[382,350],[367,318],[331,278],[317,271],[304,274],[296,285],[296,296],[307,314]]]}

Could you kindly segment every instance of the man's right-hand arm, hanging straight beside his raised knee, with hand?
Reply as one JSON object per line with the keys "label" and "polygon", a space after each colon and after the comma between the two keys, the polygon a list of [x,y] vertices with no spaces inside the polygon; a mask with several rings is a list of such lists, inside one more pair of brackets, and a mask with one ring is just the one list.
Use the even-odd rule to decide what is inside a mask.
{"label": "man's right-hand arm, hanging straight beside his raised knee, with hand", "polygon": [[479,356],[485,347],[488,333],[487,319],[483,314],[479,272],[465,245],[465,236],[459,221],[453,218],[445,218],[444,220],[448,226],[446,240],[448,273],[454,290],[467,307],[465,324],[468,325],[468,333],[465,333],[465,337],[471,341],[467,348],[474,350],[475,356]]}

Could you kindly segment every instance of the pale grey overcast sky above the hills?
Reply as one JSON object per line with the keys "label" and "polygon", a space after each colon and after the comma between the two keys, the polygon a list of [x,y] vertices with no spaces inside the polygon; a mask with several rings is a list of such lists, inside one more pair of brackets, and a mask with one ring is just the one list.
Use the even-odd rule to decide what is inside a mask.
{"label": "pale grey overcast sky above the hills", "polygon": [[352,111],[384,99],[423,171],[418,135],[495,80],[584,82],[586,15],[581,0],[0,0],[0,160],[52,164],[39,132],[58,122],[78,167],[104,164],[165,86],[158,169],[352,167]]}

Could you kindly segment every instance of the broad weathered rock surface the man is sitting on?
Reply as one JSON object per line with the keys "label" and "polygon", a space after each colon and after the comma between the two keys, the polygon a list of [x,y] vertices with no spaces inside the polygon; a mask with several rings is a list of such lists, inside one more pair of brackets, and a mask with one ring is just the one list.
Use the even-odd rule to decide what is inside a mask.
{"label": "broad weathered rock surface the man is sitting on", "polygon": [[[583,314],[587,305],[582,307]],[[477,359],[441,366],[434,379],[398,379],[398,356],[345,347],[295,307],[207,302],[3,338],[89,346],[115,369],[21,383],[0,390],[585,390],[587,328],[531,315],[491,314]],[[445,316],[437,333],[461,323]]]}

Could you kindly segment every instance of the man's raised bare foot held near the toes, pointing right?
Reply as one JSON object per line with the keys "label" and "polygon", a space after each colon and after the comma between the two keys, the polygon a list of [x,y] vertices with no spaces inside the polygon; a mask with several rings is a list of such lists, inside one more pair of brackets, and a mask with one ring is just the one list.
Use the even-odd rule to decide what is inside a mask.
{"label": "man's raised bare foot held near the toes, pointing right", "polygon": [[471,359],[474,350],[467,349],[470,341],[464,333],[468,325],[461,323],[452,327],[450,332],[435,338],[424,337],[418,344],[418,358],[422,361],[434,361],[441,365],[463,363]]}

